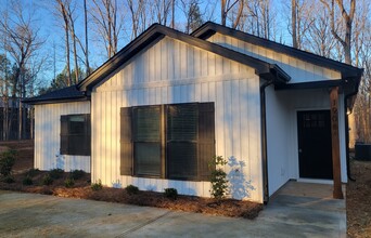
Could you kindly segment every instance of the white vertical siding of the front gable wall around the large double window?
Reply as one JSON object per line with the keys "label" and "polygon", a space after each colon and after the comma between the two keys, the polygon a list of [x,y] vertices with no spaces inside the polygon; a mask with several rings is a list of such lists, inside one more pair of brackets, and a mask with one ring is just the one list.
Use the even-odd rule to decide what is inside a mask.
{"label": "white vertical siding of the front gable wall around the large double window", "polygon": [[91,94],[92,181],[156,191],[175,187],[179,194],[209,197],[209,182],[120,175],[119,111],[138,105],[214,102],[216,155],[234,161],[226,171],[232,175],[239,169],[232,182],[246,187],[242,194],[231,190],[231,196],[263,202],[260,81],[254,71],[168,37],[142,50]]}

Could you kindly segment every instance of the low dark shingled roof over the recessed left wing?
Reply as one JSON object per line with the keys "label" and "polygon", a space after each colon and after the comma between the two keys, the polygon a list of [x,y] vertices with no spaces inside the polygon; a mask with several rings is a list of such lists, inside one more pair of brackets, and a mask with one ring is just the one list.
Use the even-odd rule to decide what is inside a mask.
{"label": "low dark shingled roof over the recessed left wing", "polygon": [[89,100],[85,92],[79,91],[76,85],[71,85],[61,90],[55,90],[39,96],[23,100],[26,104],[51,104],[51,103],[66,103],[76,101]]}

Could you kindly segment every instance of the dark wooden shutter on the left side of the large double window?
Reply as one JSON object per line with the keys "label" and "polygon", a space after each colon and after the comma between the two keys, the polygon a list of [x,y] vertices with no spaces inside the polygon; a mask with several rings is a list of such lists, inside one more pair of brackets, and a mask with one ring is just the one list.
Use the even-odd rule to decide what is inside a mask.
{"label": "dark wooden shutter on the left side of the large double window", "polygon": [[131,107],[120,108],[120,174],[132,175]]}

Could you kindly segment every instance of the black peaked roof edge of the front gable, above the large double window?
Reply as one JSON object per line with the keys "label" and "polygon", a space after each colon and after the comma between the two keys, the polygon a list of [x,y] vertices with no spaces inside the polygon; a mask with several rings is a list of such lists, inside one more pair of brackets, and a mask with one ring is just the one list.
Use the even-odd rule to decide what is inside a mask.
{"label": "black peaked roof edge of the front gable, above the large double window", "polygon": [[291,79],[278,65],[269,64],[261,60],[192,37],[159,24],[153,24],[123,50],[106,61],[101,67],[94,70],[89,77],[78,83],[77,88],[82,91],[91,91],[94,85],[104,80],[110,74],[114,72],[137,53],[165,36],[253,67],[255,68],[256,74],[261,78],[276,80],[276,82],[287,82]]}

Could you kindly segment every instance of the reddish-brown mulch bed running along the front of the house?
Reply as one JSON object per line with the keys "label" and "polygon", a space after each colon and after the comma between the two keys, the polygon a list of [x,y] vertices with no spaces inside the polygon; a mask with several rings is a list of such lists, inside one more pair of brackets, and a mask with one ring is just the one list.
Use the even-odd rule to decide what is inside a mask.
{"label": "reddish-brown mulch bed running along the front of the house", "polygon": [[[221,202],[216,202],[215,199],[210,198],[178,196],[178,198],[174,200],[166,198],[162,193],[154,191],[139,191],[138,194],[130,195],[123,188],[103,187],[101,190],[92,190],[89,173],[85,173],[82,177],[75,180],[74,186],[69,188],[65,187],[65,181],[72,175],[67,172],[64,172],[61,177],[53,180],[51,185],[42,185],[44,176],[49,172],[29,171],[34,164],[34,144],[31,141],[7,142],[2,143],[1,146],[16,149],[18,154],[14,166],[15,182],[11,184],[0,182],[0,189],[245,219],[255,219],[263,210],[263,204],[234,199],[225,199]],[[24,185],[24,180],[27,175],[33,181],[31,185]]]}

